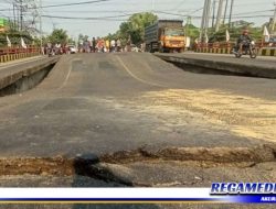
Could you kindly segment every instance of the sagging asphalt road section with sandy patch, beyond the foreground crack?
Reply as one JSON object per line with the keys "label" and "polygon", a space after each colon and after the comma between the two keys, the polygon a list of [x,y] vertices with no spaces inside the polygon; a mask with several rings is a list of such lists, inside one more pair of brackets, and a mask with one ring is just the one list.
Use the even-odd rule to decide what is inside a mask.
{"label": "sagging asphalt road section with sandy patch, beyond the foreground crack", "polygon": [[275,80],[193,74],[150,54],[64,56],[36,88],[0,98],[0,155],[270,143],[275,92]]}

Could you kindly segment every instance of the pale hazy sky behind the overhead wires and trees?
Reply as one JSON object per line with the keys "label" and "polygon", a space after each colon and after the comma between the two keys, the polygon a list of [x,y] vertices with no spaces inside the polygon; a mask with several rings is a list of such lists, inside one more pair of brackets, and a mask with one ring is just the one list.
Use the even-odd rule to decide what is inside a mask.
{"label": "pale hazy sky behind the overhead wires and trees", "polygon": [[[12,16],[12,6],[9,3],[12,0],[0,0],[0,16]],[[43,6],[51,6],[84,1],[88,0],[42,0],[42,3]],[[267,22],[269,16],[272,18],[274,15],[274,2],[275,0],[235,0],[233,20],[243,19],[261,25],[264,22]],[[89,37],[105,36],[108,33],[116,32],[121,21],[126,20],[130,14],[145,11],[155,11],[160,19],[181,19],[184,21],[187,20],[184,15],[189,14],[192,16],[192,23],[199,26],[203,4],[204,0],[107,0],[91,4],[43,8],[43,14],[51,16],[114,16],[109,18],[112,20],[63,20],[56,18],[43,18],[43,31],[50,33],[53,28],[62,28],[65,29],[71,36],[75,37],[79,33],[87,34]],[[10,10],[1,11],[3,9]],[[211,22],[212,21],[210,21],[210,24]]]}

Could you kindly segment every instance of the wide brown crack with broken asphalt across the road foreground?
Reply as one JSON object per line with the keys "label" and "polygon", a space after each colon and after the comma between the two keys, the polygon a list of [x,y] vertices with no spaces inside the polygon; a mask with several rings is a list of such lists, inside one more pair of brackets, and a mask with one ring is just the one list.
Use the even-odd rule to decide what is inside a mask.
{"label": "wide brown crack with broken asphalt across the road foreground", "polygon": [[[25,175],[43,177],[85,176],[130,187],[199,186],[206,184],[204,175],[214,170],[226,173],[235,169],[244,170],[247,177],[256,178],[256,172],[262,165],[265,165],[266,174],[270,172],[268,177],[270,179],[267,180],[275,182],[276,169],[273,168],[276,167],[275,163],[276,146],[272,144],[253,148],[167,147],[153,151],[149,147],[140,147],[135,151],[120,151],[102,156],[84,155],[74,158],[67,158],[66,156],[1,158],[0,177]],[[166,174],[171,168],[181,177]],[[140,173],[142,169],[145,169],[145,173]],[[166,179],[162,179],[164,176],[157,177],[160,172],[167,176]],[[203,175],[203,173],[205,174]],[[191,177],[191,175],[194,177]],[[168,176],[171,177],[168,179]],[[224,178],[224,174],[221,177]],[[237,178],[240,177],[237,175]],[[258,175],[258,177],[264,179],[264,176]],[[214,179],[216,179],[215,176],[212,177],[212,180]]]}

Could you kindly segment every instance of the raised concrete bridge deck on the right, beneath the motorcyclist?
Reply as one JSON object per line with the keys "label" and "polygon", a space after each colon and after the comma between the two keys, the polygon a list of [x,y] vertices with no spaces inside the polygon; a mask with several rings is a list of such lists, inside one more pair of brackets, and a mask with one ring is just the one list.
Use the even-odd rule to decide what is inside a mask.
{"label": "raised concrete bridge deck on the right, beneath the motorcyclist", "polygon": [[251,59],[250,57],[235,58],[234,55],[216,55],[205,53],[156,53],[155,55],[163,61],[176,63],[178,65],[191,65],[245,76],[276,78],[275,57],[257,57],[256,59]]}

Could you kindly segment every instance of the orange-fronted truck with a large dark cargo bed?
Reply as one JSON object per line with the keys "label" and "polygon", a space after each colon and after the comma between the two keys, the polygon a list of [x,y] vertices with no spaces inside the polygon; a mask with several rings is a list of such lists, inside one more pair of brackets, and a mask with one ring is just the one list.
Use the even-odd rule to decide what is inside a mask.
{"label": "orange-fronted truck with a large dark cargo bed", "polygon": [[158,20],[145,29],[146,51],[150,53],[183,52],[185,36],[183,21]]}

